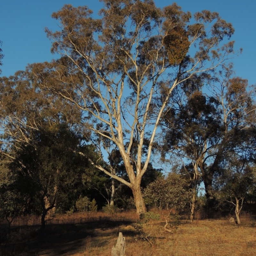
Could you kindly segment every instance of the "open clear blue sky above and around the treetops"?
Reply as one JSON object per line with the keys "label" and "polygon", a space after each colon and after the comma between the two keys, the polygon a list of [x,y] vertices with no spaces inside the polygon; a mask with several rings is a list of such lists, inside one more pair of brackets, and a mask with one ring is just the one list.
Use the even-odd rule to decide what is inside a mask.
{"label": "open clear blue sky above and around the treetops", "polygon": [[[175,1],[174,1],[175,2]],[[158,7],[172,4],[170,0],[155,0]],[[255,0],[179,0],[183,11],[192,14],[202,10],[219,12],[235,28],[232,40],[243,53],[236,57],[236,75],[256,83],[256,1]],[[52,12],[64,4],[87,5],[97,15],[102,3],[98,0],[1,0],[0,40],[4,53],[1,76],[11,76],[17,70],[24,70],[28,63],[52,60],[51,43],[44,28],[55,31],[57,23],[51,18]]]}

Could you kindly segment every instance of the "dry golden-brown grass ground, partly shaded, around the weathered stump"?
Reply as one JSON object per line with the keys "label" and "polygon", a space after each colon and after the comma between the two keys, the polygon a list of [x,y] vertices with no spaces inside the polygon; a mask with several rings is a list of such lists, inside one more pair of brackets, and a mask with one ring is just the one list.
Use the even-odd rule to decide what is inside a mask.
{"label": "dry golden-brown grass ground, partly shaded, around the weathered stump", "polygon": [[[132,227],[135,212],[112,215],[86,213],[58,215],[47,223],[44,242],[38,239],[40,218],[19,218],[12,224],[2,255],[110,256],[119,232],[126,241],[126,256],[253,256],[256,255],[256,220],[241,216],[242,225],[221,220],[172,222],[164,230],[164,219],[143,224],[143,236]],[[145,239],[147,236],[148,240]]]}

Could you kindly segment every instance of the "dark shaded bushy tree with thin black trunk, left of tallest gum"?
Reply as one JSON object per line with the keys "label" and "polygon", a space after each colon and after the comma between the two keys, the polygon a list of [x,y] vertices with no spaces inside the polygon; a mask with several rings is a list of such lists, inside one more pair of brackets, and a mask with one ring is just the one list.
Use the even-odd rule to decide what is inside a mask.
{"label": "dark shaded bushy tree with thin black trunk, left of tallest gum", "polygon": [[66,124],[44,126],[17,153],[11,168],[20,175],[31,200],[41,206],[42,230],[49,211],[76,194],[93,174],[94,148],[80,146],[81,138]]}

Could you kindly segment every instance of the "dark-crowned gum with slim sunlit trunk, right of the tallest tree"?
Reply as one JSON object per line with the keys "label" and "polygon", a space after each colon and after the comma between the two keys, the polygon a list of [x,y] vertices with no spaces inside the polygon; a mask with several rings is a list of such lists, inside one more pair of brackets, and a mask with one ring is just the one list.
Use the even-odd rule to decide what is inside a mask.
{"label": "dark-crowned gum with slim sunlit trunk, right of the tallest tree", "polygon": [[181,172],[190,180],[193,191],[190,198],[192,222],[197,188],[202,182],[201,168],[220,137],[220,112],[216,100],[206,97],[199,90],[188,93],[187,97],[176,91],[173,103],[165,115],[161,153],[163,159],[167,156],[178,157],[183,162]]}

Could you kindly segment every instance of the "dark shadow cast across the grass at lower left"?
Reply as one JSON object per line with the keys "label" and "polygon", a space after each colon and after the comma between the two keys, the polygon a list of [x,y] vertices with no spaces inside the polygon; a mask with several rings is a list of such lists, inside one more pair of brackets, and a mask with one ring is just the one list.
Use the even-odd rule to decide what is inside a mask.
{"label": "dark shadow cast across the grass at lower left", "polygon": [[[100,219],[80,223],[46,224],[44,240],[39,238],[40,226],[13,227],[8,243],[2,245],[0,255],[59,256],[83,250],[90,241],[93,247],[109,243],[108,237],[118,233],[120,226],[131,225],[132,221]],[[129,233],[129,235],[133,235]],[[111,250],[111,248],[110,248]]]}

